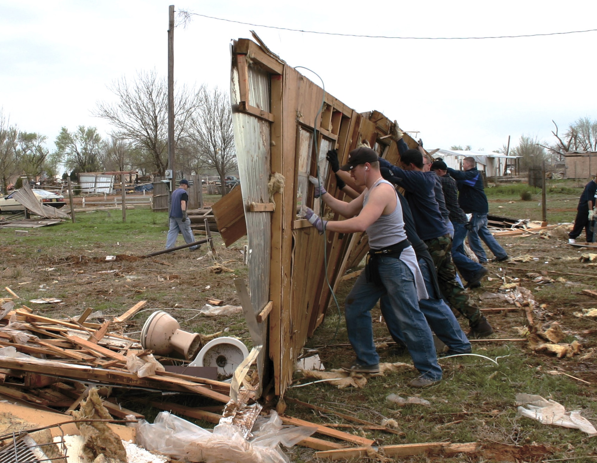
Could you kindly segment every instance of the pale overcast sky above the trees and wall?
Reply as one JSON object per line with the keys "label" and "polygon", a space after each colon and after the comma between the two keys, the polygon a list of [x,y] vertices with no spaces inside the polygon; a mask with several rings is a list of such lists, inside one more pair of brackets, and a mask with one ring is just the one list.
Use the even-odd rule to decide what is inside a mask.
{"label": "pale overcast sky above the trees and wall", "polygon": [[[140,70],[167,73],[162,0],[0,0],[0,107],[21,130],[110,126],[94,118],[107,88]],[[359,35],[468,37],[595,29],[597,2],[550,0],[198,2],[176,10],[291,29]],[[597,32],[485,40],[371,39],[267,29],[193,16],[174,35],[177,84],[229,88],[230,41],[256,30],[291,66],[321,76],[350,107],[379,110],[419,131],[427,149],[488,151],[522,135],[550,140],[597,119]],[[319,83],[316,76],[303,73]],[[415,135],[415,134],[413,134]]]}

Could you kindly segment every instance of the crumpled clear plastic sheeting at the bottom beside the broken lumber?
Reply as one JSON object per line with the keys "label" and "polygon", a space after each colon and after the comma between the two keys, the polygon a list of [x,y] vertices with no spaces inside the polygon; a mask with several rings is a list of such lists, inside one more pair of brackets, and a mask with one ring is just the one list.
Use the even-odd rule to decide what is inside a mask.
{"label": "crumpled clear plastic sheeting at the bottom beside the broken lumber", "polygon": [[274,410],[269,417],[259,417],[251,440],[231,424],[219,424],[213,432],[168,412],[160,412],[153,424],[140,420],[137,443],[147,450],[180,461],[205,463],[289,463],[279,447],[291,447],[315,433],[316,428],[282,427]]}

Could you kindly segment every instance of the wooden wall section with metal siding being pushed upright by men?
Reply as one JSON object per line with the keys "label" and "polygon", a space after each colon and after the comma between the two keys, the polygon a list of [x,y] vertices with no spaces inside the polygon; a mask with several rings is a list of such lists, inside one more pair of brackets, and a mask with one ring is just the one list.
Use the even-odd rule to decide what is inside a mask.
{"label": "wooden wall section with metal siding being pushed upright by men", "polygon": [[[390,162],[398,160],[398,149],[389,137],[392,122],[386,116],[377,111],[357,113],[253,41],[234,42],[231,81],[251,252],[251,304],[257,314],[272,303],[261,329],[269,335],[264,338],[269,341],[266,352],[273,371],[262,356],[261,384],[273,375],[275,393],[282,395],[292,381],[301,348],[322,322],[330,301],[324,253],[327,278],[335,289],[344,271],[358,265],[368,251],[363,233],[328,232],[324,240],[297,215],[301,204],[319,212],[308,176],[319,170],[328,192],[341,198],[325,159],[328,150],[336,148],[343,163],[364,140]],[[408,135],[405,140],[416,146]],[[284,177],[285,186],[270,197],[267,182],[274,173]],[[323,215],[340,218],[328,209]]]}

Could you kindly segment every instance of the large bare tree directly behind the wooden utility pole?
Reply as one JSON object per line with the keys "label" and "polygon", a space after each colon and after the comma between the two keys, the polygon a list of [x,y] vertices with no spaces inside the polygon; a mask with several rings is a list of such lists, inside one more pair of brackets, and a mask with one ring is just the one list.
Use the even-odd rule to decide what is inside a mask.
{"label": "large bare tree directly behind the wooden utility pole", "polygon": [[[110,90],[118,101],[98,102],[94,116],[115,127],[113,136],[128,140],[140,150],[141,165],[153,166],[163,175],[168,168],[168,92],[165,78],[155,70],[139,72],[133,82],[124,76]],[[185,86],[174,95],[174,146],[185,137],[192,113],[201,101],[199,92]]]}

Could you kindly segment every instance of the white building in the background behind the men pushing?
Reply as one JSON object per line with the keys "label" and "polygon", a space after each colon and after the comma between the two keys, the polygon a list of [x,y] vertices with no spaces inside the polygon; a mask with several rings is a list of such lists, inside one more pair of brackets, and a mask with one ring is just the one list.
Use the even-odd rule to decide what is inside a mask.
{"label": "white building in the background behind the men pushing", "polygon": [[477,169],[484,171],[490,177],[505,177],[506,175],[518,175],[521,156],[506,156],[500,153],[488,151],[464,151],[464,150],[436,150],[431,152],[433,159],[442,158],[444,162],[453,169],[459,170],[462,167],[462,160],[472,156],[477,162]]}

